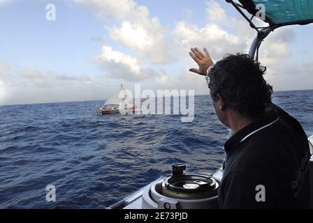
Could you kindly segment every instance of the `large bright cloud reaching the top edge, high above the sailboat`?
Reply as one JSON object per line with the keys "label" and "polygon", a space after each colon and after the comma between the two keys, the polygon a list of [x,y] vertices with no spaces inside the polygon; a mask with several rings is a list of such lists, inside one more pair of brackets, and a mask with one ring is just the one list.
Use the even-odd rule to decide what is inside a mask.
{"label": "large bright cloud reaching the top edge, high above the sailboat", "polygon": [[[151,63],[173,61],[166,40],[166,28],[150,11],[133,0],[74,0],[92,9],[108,29],[110,38],[136,50],[139,56]],[[121,22],[112,26],[112,18]]]}

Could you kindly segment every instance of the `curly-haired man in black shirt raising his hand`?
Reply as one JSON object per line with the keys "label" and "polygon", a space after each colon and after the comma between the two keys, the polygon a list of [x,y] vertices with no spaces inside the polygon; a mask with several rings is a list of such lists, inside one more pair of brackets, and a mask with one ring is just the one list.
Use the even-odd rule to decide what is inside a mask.
{"label": "curly-haired man in black shirt raising his hand", "polygon": [[[221,208],[310,208],[310,148],[300,123],[272,104],[265,67],[247,54],[213,63],[191,48],[205,75],[215,112],[232,136],[219,187]],[[208,72],[208,73],[207,73]]]}

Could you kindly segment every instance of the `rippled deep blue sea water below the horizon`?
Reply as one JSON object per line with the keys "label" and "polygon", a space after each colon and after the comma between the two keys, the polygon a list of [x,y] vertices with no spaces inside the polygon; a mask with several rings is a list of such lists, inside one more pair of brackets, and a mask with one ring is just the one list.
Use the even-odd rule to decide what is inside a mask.
{"label": "rippled deep blue sea water below the horizon", "polygon": [[[210,172],[224,158],[228,130],[207,95],[195,118],[97,116],[101,101],[0,107],[0,208],[105,208],[159,176],[170,165]],[[313,91],[275,93],[274,102],[313,134]],[[45,200],[45,187],[57,201]]]}

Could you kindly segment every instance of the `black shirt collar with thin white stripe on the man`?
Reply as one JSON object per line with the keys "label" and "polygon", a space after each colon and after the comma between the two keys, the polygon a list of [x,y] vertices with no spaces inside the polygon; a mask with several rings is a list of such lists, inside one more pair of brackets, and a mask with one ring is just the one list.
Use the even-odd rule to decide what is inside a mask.
{"label": "black shirt collar with thin white stripe on the man", "polygon": [[245,126],[241,130],[233,134],[233,136],[225,142],[224,148],[226,153],[229,153],[231,149],[235,147],[235,145],[239,144],[241,141],[244,141],[250,135],[258,132],[259,130],[262,130],[263,128],[267,128],[278,120],[279,118],[277,113],[272,111],[268,112],[265,117],[259,118],[253,123]]}

